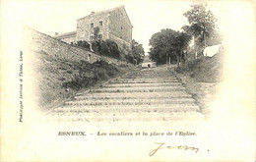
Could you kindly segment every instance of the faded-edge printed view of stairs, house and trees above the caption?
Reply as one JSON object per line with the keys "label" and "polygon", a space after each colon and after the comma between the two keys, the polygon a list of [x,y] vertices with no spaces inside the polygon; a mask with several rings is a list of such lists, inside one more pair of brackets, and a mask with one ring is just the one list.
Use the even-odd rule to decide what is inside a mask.
{"label": "faded-edge printed view of stairs, house and trees above the caption", "polygon": [[[207,4],[186,5],[177,17],[188,24],[178,29],[169,21],[144,31],[124,5],[92,11],[64,33],[25,27],[40,110],[58,121],[205,120],[213,111],[207,99],[222,81],[222,30]],[[145,37],[133,36],[138,31]]]}

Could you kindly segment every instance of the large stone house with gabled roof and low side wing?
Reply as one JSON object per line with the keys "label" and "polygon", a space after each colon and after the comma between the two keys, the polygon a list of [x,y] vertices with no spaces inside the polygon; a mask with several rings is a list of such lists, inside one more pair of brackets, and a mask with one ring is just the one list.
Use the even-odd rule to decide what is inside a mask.
{"label": "large stone house with gabled roof and low side wing", "polygon": [[99,27],[98,37],[115,41],[119,47],[132,48],[132,24],[124,6],[101,12],[92,12],[89,16],[77,20],[76,31],[55,33],[55,38],[67,43],[80,40],[92,42],[94,28]]}

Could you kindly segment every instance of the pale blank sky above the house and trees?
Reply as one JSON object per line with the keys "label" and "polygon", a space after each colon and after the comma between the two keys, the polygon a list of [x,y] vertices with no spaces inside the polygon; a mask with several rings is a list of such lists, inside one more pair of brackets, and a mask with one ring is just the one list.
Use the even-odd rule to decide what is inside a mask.
{"label": "pale blank sky above the house and trees", "polygon": [[[76,30],[76,20],[91,14],[125,6],[133,25],[133,38],[143,44],[146,53],[149,51],[149,39],[162,28],[180,29],[187,25],[187,19],[182,15],[190,9],[191,1],[21,1],[9,3],[7,14],[17,17],[23,24],[40,32],[54,35],[55,32]],[[225,6],[208,3],[221,23],[226,22]],[[19,11],[19,12],[18,12]],[[221,14],[220,14],[221,13]],[[221,19],[220,19],[221,18]]]}

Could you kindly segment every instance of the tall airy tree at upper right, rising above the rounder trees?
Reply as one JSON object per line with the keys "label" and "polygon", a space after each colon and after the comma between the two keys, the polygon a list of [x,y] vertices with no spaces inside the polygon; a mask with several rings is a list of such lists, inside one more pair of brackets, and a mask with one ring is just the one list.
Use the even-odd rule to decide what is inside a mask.
{"label": "tall airy tree at upper right, rising above the rounder trees", "polygon": [[[206,5],[191,5],[191,9],[183,14],[189,26],[182,27],[186,33],[193,35],[198,42],[195,44],[206,47],[207,37],[216,29],[217,19],[214,14],[206,9]],[[204,43],[204,44],[202,44]]]}

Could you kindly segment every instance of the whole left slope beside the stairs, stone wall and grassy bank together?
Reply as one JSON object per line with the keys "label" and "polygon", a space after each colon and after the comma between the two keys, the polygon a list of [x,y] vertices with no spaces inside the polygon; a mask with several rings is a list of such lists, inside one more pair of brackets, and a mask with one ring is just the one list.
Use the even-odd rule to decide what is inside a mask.
{"label": "whole left slope beside the stairs, stone wall and grassy bank together", "polygon": [[[81,89],[121,75],[133,67],[116,59],[101,57],[46,34],[26,28],[23,50],[32,56],[34,88],[41,110],[72,98]],[[30,57],[27,55],[27,60]]]}

